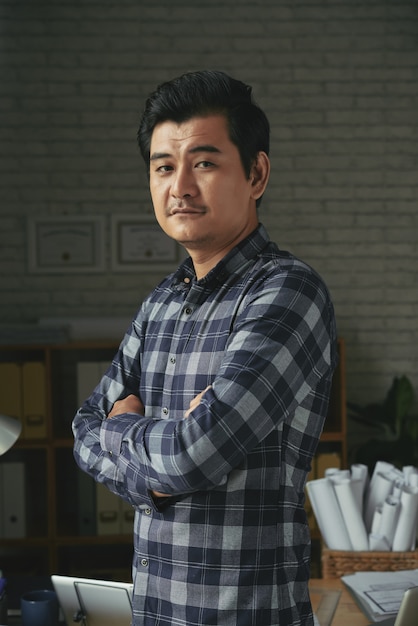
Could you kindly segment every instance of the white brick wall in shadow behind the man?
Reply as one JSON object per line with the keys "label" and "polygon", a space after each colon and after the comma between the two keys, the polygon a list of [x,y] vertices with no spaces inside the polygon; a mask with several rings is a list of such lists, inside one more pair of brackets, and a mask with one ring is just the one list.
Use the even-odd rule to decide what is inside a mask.
{"label": "white brick wall in shadow behind the man", "polygon": [[348,397],[418,385],[416,0],[1,0],[0,21],[0,322],[133,313],[159,274],[109,254],[99,276],[31,275],[27,218],[149,212],[145,96],[224,69],[271,120],[261,218],[331,288]]}

